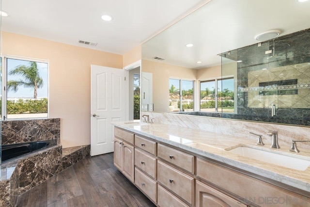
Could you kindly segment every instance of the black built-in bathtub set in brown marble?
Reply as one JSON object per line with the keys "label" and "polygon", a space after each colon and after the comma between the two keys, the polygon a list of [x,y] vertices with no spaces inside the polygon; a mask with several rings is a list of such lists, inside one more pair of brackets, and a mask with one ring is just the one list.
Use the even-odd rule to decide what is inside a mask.
{"label": "black built-in bathtub set in brown marble", "polygon": [[4,144],[1,146],[1,163],[29,156],[55,145],[57,145],[57,140]]}

